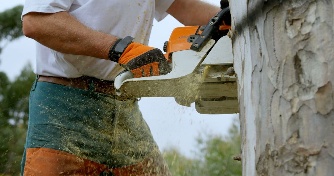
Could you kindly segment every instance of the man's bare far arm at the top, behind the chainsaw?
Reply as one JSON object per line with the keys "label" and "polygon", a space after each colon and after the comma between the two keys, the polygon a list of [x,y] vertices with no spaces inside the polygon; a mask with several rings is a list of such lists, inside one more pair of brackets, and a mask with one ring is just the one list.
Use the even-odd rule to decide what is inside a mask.
{"label": "man's bare far arm at the top, behind the chainsaw", "polygon": [[219,7],[200,0],[175,0],[167,13],[185,26],[195,26],[207,24],[219,10]]}

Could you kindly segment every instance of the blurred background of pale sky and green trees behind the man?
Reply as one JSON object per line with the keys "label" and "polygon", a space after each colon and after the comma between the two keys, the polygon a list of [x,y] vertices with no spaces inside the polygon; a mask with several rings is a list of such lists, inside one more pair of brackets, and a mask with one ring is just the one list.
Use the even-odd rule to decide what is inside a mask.
{"label": "blurred background of pale sky and green trees behind the man", "polygon": [[[219,6],[219,0],[208,0]],[[28,122],[29,92],[35,80],[35,41],[24,37],[24,0],[0,6],[0,176],[19,175]],[[162,50],[172,30],[183,26],[168,15],[154,20],[149,45]],[[174,98],[142,98],[144,119],[173,175],[241,175],[237,114],[202,115]]]}

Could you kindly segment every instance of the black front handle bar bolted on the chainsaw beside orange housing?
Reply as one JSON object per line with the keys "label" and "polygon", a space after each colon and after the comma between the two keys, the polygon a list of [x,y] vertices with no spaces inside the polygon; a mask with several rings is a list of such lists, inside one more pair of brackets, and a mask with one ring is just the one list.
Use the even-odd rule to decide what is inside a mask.
{"label": "black front handle bar bolted on the chainsaw beside orange housing", "polygon": [[190,35],[188,40],[190,40],[190,37],[192,40],[194,40],[190,46],[190,49],[199,52],[203,48],[204,44],[210,40],[212,34],[219,30],[220,24],[222,24],[224,19],[228,18],[227,15],[230,15],[229,7],[221,9],[215,16],[213,16],[209,20],[201,35]]}

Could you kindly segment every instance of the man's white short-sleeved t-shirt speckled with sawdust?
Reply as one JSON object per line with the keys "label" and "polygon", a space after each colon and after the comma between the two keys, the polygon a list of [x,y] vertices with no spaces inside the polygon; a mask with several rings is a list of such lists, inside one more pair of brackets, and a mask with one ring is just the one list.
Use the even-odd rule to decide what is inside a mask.
{"label": "man's white short-sleeved t-shirt speckled with sawdust", "polygon": [[[153,18],[166,15],[174,0],[26,0],[22,16],[29,12],[67,11],[87,27],[135,42],[148,44]],[[36,42],[36,69],[44,76],[77,78],[83,75],[114,80],[123,71],[118,63],[89,56],[64,54]]]}

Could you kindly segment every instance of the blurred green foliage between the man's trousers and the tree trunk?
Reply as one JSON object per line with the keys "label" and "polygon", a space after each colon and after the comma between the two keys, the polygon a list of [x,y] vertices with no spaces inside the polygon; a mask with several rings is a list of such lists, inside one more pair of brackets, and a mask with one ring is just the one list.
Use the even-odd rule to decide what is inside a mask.
{"label": "blurred green foliage between the man's trousers and the tree trunk", "polygon": [[241,176],[241,164],[233,160],[239,155],[241,138],[235,120],[228,136],[206,135],[197,138],[195,158],[187,158],[176,149],[164,152],[164,158],[173,176]]}

